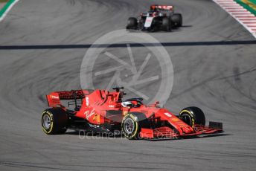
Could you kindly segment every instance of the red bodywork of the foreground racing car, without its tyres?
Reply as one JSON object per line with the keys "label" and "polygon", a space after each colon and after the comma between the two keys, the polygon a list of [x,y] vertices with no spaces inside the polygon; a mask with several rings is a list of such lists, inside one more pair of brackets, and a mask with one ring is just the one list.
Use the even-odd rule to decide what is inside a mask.
{"label": "red bodywork of the foreground racing car, without its tyres", "polygon": [[[75,94],[75,96],[74,96]],[[159,126],[155,129],[141,128],[140,135],[142,138],[173,138],[189,135],[202,135],[220,132],[222,129],[214,129],[209,126],[195,125],[193,128],[182,121],[175,114],[167,109],[158,107],[159,103],[152,105],[144,105],[129,108],[121,105],[124,96],[123,91],[106,91],[106,90],[76,90],[76,91],[56,91],[47,95],[48,106],[61,107],[66,110],[60,100],[81,99],[80,109],[74,111],[75,117],[88,120],[89,123],[95,125],[103,125],[106,123],[121,123],[123,117],[127,113],[140,112],[143,113],[148,120],[167,122],[170,126]],[[136,103],[136,102],[134,102]],[[108,116],[108,111],[120,112]]]}

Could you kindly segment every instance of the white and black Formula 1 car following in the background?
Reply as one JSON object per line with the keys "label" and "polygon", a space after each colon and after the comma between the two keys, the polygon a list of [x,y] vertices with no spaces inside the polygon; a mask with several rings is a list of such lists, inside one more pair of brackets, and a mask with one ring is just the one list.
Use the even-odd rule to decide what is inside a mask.
{"label": "white and black Formula 1 car following in the background", "polygon": [[150,11],[141,13],[136,19],[128,19],[127,29],[134,30],[164,30],[170,31],[172,28],[182,26],[182,14],[174,13],[171,5],[151,5]]}

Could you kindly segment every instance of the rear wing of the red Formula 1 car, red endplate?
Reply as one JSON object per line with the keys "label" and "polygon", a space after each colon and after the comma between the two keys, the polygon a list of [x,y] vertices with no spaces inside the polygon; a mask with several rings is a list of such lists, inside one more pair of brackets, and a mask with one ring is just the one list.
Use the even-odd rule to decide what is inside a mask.
{"label": "rear wing of the red Formula 1 car, red endplate", "polygon": [[71,91],[55,91],[46,95],[49,107],[61,106],[60,100],[77,100],[83,99],[86,94],[90,94],[89,90],[71,90]]}

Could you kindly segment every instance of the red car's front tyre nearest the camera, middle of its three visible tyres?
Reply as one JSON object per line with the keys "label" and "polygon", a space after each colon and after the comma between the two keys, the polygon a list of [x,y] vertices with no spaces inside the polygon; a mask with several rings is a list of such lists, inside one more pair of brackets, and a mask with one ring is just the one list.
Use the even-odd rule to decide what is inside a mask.
{"label": "red car's front tyre nearest the camera, middle of its three visible tyres", "polygon": [[148,128],[149,123],[142,113],[134,112],[124,116],[121,129],[124,136],[129,140],[140,139],[141,128]]}

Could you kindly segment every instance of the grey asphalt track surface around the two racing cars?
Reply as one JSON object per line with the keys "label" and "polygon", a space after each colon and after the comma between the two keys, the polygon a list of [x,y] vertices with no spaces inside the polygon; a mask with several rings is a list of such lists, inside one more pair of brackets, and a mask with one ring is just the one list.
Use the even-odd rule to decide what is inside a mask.
{"label": "grey asphalt track surface around the two racing cars", "polygon": [[[199,106],[207,120],[223,122],[223,136],[81,140],[72,133],[42,132],[45,94],[80,88],[80,64],[87,48],[72,46],[90,45],[109,31],[123,29],[129,16],[153,3],[21,0],[13,7],[0,23],[0,45],[12,47],[0,51],[0,170],[255,170],[256,42],[213,1],[158,1],[175,5],[185,27],[150,35],[167,43],[164,48],[173,62],[167,109],[178,113],[185,106]],[[118,51],[123,50],[112,48],[112,53]],[[142,47],[132,51],[137,58],[147,53]],[[150,65],[145,73],[153,73]]]}

